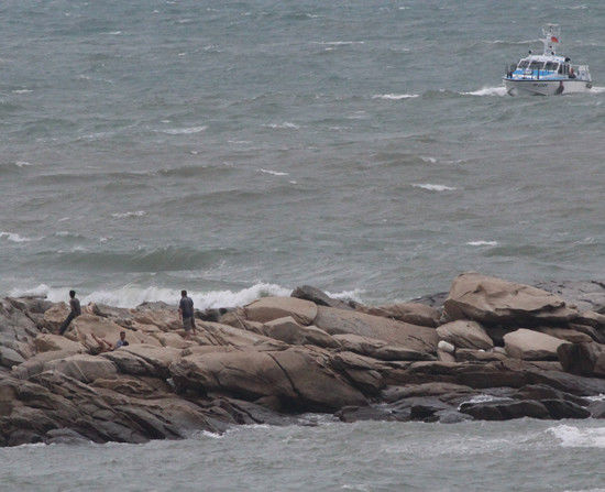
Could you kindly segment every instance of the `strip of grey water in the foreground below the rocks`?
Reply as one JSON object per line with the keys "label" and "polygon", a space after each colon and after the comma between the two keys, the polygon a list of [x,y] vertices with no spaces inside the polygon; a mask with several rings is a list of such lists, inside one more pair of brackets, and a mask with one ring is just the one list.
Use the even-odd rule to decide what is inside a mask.
{"label": "strip of grey water in the foreground below the rocks", "polygon": [[146,445],[0,449],[0,488],[122,491],[604,491],[595,422],[244,426]]}

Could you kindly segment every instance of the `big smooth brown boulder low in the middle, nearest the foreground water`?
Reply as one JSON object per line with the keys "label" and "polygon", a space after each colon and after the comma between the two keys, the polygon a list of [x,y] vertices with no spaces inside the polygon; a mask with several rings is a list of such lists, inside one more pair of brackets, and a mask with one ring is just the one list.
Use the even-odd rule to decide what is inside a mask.
{"label": "big smooth brown boulder low in the middle, nearest the foreground water", "polygon": [[276,396],[285,408],[336,411],[363,405],[365,397],[301,349],[241,350],[190,356],[170,365],[180,390],[220,392],[244,400]]}

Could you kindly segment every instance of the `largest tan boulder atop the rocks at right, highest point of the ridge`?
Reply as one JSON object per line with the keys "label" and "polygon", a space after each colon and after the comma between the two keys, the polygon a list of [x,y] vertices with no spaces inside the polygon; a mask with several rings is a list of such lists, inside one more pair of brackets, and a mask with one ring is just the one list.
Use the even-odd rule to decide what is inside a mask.
{"label": "largest tan boulder atop the rocks at right, highest point of the ridge", "polygon": [[455,277],[444,313],[449,320],[473,319],[508,326],[566,324],[579,316],[578,309],[568,307],[554,294],[475,272]]}

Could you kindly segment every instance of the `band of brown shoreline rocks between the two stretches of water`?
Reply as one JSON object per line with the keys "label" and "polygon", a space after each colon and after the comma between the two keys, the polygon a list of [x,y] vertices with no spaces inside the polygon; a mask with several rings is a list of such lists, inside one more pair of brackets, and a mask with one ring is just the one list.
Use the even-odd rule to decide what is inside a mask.
{"label": "band of brown shoreline rocks between the two stretches of water", "polygon": [[[177,439],[292,424],[304,412],[342,422],[605,418],[605,287],[570,285],[581,292],[471,272],[447,296],[378,307],[304,286],[198,311],[188,339],[165,303],[84,306],[62,337],[64,303],[6,298],[0,446]],[[122,330],[130,345],[114,351],[92,337],[114,343]]]}

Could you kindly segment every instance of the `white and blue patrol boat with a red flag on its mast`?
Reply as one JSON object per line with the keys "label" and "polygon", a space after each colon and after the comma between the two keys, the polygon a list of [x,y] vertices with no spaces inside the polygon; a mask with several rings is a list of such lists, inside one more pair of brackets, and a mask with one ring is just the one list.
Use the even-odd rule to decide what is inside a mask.
{"label": "white and blue patrol boat with a red flag on its mast", "polygon": [[561,28],[547,24],[542,28],[542,35],[540,41],[544,44],[544,53],[534,55],[530,51],[518,64],[510,65],[503,77],[506,91],[510,96],[590,91],[593,85],[588,65],[572,65],[571,58],[557,54]]}

